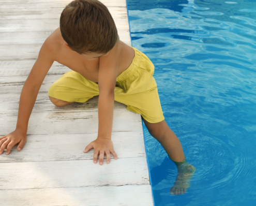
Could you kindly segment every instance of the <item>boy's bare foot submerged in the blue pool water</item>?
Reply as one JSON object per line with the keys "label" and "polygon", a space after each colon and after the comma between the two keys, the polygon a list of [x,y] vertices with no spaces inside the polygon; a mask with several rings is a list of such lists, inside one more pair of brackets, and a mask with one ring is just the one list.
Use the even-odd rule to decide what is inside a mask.
{"label": "boy's bare foot submerged in the blue pool water", "polygon": [[190,187],[190,179],[194,175],[195,167],[191,164],[185,163],[178,168],[178,175],[174,182],[173,187],[170,190],[171,195],[183,195],[187,192]]}

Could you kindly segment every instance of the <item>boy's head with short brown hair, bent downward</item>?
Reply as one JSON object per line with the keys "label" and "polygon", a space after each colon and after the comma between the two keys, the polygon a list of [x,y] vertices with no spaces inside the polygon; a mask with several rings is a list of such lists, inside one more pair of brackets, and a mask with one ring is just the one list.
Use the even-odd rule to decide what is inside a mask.
{"label": "boy's head with short brown hair, bent downward", "polygon": [[108,53],[118,35],[108,8],[97,0],[75,0],[62,11],[63,39],[77,53]]}

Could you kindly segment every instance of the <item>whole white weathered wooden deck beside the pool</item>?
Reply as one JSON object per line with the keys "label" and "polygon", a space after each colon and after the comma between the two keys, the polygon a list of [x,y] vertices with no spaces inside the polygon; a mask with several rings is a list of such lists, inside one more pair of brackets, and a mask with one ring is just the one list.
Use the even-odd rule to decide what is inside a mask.
{"label": "whole white weathered wooden deck beside the pool", "polygon": [[[44,40],[71,0],[0,0],[0,135],[16,127],[19,98]],[[131,45],[125,0],[101,0],[122,41]],[[93,163],[98,98],[58,108],[50,85],[69,71],[54,62],[28,124],[25,146],[0,155],[0,205],[153,205],[141,117],[115,102],[112,140],[117,160]]]}

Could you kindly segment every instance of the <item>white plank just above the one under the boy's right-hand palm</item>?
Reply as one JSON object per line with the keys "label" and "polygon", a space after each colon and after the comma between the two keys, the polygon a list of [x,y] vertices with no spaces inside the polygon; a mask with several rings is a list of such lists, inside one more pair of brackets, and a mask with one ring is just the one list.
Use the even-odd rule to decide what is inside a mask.
{"label": "white plank just above the one under the boy's right-hand palm", "polygon": [[[128,110],[114,110],[113,132],[142,131],[140,114]],[[16,128],[17,113],[1,114],[0,136]],[[98,111],[36,112],[28,122],[27,134],[71,134],[98,131]]]}

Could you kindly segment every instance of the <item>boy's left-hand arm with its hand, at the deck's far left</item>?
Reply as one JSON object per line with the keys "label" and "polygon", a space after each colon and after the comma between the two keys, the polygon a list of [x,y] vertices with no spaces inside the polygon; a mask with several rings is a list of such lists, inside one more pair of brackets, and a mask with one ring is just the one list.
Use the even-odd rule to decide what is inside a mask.
{"label": "boy's left-hand arm with its hand, at the deck's far left", "polygon": [[0,155],[6,147],[6,154],[9,154],[11,148],[14,145],[19,143],[17,147],[19,151],[24,146],[26,142],[28,119],[33,110],[36,97],[43,82],[43,79],[44,77],[46,77],[50,67],[54,62],[53,50],[54,49],[52,48],[52,42],[47,39],[43,43],[38,58],[22,88],[16,130],[5,136],[0,137]]}

